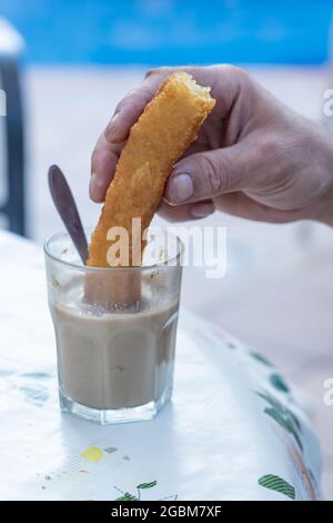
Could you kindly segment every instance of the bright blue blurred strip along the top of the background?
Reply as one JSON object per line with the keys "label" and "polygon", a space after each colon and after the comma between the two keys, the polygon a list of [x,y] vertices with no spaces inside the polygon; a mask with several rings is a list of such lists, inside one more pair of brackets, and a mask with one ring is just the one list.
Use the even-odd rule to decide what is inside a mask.
{"label": "bright blue blurred strip along the top of the background", "polygon": [[327,0],[0,0],[36,63],[322,63]]}

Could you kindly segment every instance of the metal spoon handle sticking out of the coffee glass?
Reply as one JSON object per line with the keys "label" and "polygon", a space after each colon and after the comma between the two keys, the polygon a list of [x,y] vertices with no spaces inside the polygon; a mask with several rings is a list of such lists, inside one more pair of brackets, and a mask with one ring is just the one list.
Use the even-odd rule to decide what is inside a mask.
{"label": "metal spoon handle sticking out of the coffee glass", "polygon": [[56,165],[49,169],[49,187],[56,208],[78,249],[83,265],[88,260],[88,243],[72,191],[60,168]]}

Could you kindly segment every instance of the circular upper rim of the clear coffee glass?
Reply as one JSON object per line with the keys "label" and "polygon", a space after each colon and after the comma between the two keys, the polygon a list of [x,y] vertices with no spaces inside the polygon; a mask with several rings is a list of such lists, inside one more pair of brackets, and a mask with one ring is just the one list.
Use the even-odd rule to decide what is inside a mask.
{"label": "circular upper rim of the clear coffee glass", "polygon": [[[83,229],[87,231],[87,230],[93,230],[93,227],[83,227]],[[182,243],[182,240],[180,239],[180,237],[173,233],[167,233],[165,229],[162,229],[162,234],[163,235],[170,235],[171,237],[173,237],[175,240],[176,240],[176,246],[178,246],[178,249],[176,249],[176,253],[171,256],[170,258],[168,258],[167,260],[164,262],[160,262],[160,263],[155,263],[155,264],[152,264],[152,265],[140,265],[140,266],[128,266],[128,267],[90,267],[90,266],[87,266],[87,265],[79,265],[79,264],[75,264],[73,262],[67,262],[64,259],[61,259],[59,258],[58,256],[56,256],[54,254],[51,253],[50,250],[50,245],[51,243],[54,243],[57,239],[61,238],[61,236],[63,237],[68,237],[70,239],[70,241],[72,243],[73,245],[73,241],[69,235],[69,233],[67,230],[62,230],[62,231],[59,231],[59,233],[56,233],[53,234],[52,236],[50,236],[49,238],[47,238],[43,243],[43,251],[47,256],[47,258],[50,258],[52,259],[53,262],[60,264],[60,265],[64,265],[67,267],[70,267],[72,269],[75,269],[75,270],[84,270],[84,272],[89,272],[89,273],[103,273],[103,272],[111,272],[111,270],[114,270],[114,272],[120,272],[120,270],[128,270],[128,272],[142,272],[142,270],[152,270],[154,268],[158,268],[158,267],[176,267],[178,264],[175,265],[169,265],[170,262],[173,262],[173,260],[180,260],[180,257],[184,250],[184,245]]]}

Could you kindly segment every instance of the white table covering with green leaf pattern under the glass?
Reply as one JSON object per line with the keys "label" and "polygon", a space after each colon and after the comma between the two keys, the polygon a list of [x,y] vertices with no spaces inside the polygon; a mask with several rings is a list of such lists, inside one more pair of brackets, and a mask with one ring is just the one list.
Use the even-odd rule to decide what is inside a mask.
{"label": "white table covering with green leaf pattern under the glass", "polygon": [[0,231],[4,500],[314,500],[320,453],[279,371],[181,312],[173,401],[152,422],[60,414],[43,257]]}

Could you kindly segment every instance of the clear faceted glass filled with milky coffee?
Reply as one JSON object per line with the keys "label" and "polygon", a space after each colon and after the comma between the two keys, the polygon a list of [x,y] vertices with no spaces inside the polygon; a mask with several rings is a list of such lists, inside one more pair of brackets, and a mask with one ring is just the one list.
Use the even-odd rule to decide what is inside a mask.
{"label": "clear faceted glass filled with milky coffee", "polygon": [[61,409],[100,424],[154,417],[172,394],[181,241],[151,237],[141,267],[85,267],[65,233],[44,251]]}

